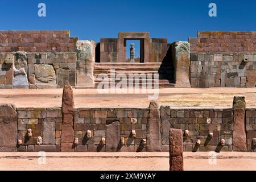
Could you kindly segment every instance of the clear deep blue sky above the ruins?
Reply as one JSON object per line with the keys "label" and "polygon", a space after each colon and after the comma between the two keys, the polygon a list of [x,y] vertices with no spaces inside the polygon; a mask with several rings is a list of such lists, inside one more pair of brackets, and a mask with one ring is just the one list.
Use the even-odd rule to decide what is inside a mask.
{"label": "clear deep blue sky above the ruins", "polygon": [[[46,17],[38,4],[46,3]],[[217,17],[208,5],[217,4]],[[1,0],[0,30],[71,30],[80,40],[117,38],[120,31],[149,31],[151,38],[187,41],[199,30],[256,30],[256,1]]]}

